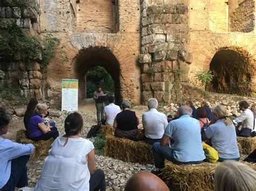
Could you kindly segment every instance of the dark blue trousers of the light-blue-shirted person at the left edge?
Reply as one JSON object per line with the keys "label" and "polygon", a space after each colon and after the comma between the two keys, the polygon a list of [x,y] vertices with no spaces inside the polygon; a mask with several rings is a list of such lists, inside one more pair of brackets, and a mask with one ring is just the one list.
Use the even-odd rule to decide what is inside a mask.
{"label": "dark blue trousers of the light-blue-shirted person at the left edge", "polygon": [[1,191],[9,191],[14,190],[15,187],[22,188],[28,186],[26,163],[29,161],[29,157],[30,155],[23,155],[11,160],[11,175],[8,182],[1,188]]}

